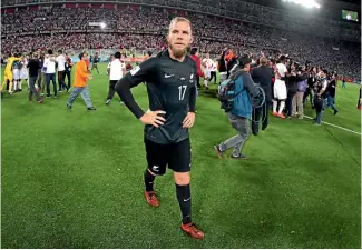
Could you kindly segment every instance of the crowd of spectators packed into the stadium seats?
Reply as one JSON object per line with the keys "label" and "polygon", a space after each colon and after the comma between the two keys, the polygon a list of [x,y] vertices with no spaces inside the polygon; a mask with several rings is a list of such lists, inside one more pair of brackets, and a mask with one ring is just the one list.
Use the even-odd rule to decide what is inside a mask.
{"label": "crowd of spectators packed into the stadium seats", "polygon": [[[165,33],[172,16],[174,13],[145,7],[123,11],[60,6],[19,9],[1,17],[1,52],[29,52],[39,48],[158,51],[166,46]],[[246,53],[263,50],[270,58],[284,53],[301,63],[309,60],[336,70],[340,76],[360,78],[360,44],[196,13],[187,13],[187,18],[193,22],[193,46],[198,47],[200,53],[219,54],[225,47]],[[89,26],[89,22],[100,21],[107,24],[104,30]]]}

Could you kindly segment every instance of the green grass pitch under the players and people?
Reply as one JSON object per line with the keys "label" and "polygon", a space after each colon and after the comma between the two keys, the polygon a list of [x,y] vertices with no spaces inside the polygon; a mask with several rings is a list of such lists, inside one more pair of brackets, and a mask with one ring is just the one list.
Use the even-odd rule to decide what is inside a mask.
{"label": "green grass pitch under the players and people", "polygon": [[[68,94],[1,102],[2,248],[360,248],[360,136],[311,120],[271,118],[251,137],[247,161],[218,160],[213,144],[235,134],[216,99],[197,99],[192,129],[193,218],[203,241],[179,230],[172,172],[156,180],[162,206],[143,197],[143,124],[90,81],[97,111]],[[147,109],[146,87],[134,89]],[[359,87],[339,87],[337,116],[324,120],[361,131]],[[309,107],[309,104],[307,104]],[[306,114],[313,111],[306,109]]]}

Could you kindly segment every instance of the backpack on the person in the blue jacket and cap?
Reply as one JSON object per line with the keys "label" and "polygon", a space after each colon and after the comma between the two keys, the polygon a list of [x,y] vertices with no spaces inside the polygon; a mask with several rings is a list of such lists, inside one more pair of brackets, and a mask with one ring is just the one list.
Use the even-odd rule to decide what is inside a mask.
{"label": "backpack on the person in the blue jacket and cap", "polygon": [[239,92],[235,92],[236,79],[242,76],[242,70],[233,72],[218,87],[217,98],[221,102],[221,109],[225,110],[225,112],[232,111],[234,107],[234,99],[242,92],[242,90]]}

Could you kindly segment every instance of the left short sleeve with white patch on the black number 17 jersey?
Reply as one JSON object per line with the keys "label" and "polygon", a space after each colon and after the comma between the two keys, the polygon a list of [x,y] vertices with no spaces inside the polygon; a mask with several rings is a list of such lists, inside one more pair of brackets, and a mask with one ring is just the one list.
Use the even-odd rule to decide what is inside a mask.
{"label": "left short sleeve with white patch on the black number 17 jersey", "polygon": [[127,73],[127,80],[131,87],[149,81],[156,69],[156,58],[149,58]]}

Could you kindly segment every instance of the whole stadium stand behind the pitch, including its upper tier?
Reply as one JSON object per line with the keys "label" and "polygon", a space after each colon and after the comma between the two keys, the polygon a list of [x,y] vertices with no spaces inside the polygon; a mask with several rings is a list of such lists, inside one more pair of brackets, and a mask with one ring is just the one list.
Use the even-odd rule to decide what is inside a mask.
{"label": "whole stadium stand behind the pitch, including its upper tier", "polygon": [[[170,18],[187,16],[193,22],[194,46],[199,47],[200,52],[219,54],[228,46],[251,53],[263,50],[270,57],[287,53],[302,63],[310,60],[340,74],[360,78],[358,24],[341,24],[323,18],[292,18],[283,16],[282,10],[244,1],[120,3],[2,1],[1,52],[29,52],[39,48],[157,51],[166,46],[165,28]],[[89,26],[100,21],[107,24],[105,29]]]}

